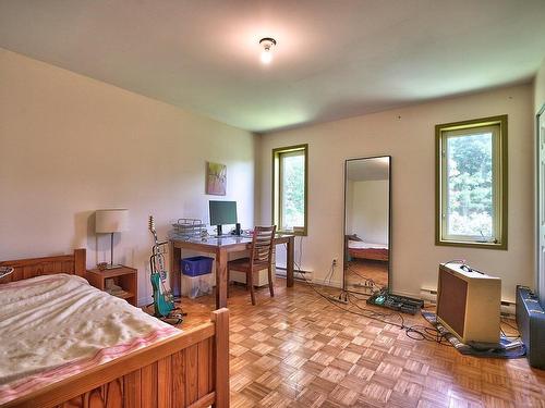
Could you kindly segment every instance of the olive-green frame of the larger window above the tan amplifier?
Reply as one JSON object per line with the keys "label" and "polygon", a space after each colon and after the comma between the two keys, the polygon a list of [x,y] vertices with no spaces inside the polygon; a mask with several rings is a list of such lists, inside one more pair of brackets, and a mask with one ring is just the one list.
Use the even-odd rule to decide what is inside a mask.
{"label": "olive-green frame of the larger window above the tan amplifier", "polygon": [[[436,174],[436,200],[435,200],[435,245],[456,246],[485,249],[507,250],[508,240],[508,138],[507,115],[474,119],[470,121],[439,124],[435,126],[435,174]],[[447,236],[448,221],[446,220],[447,183],[446,177],[446,140],[449,137],[462,136],[463,131],[495,127],[493,133],[493,206],[494,221],[493,233],[496,237],[493,242],[480,242],[477,236],[451,235]],[[452,135],[455,133],[455,135]],[[456,135],[456,133],[459,133]],[[462,136],[463,137],[463,136]]]}

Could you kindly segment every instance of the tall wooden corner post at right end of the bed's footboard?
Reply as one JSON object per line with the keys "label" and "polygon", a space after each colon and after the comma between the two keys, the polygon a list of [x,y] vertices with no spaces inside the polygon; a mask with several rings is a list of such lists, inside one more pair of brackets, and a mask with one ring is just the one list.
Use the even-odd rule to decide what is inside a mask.
{"label": "tall wooden corner post at right end of the bed's footboard", "polygon": [[216,324],[216,344],[214,362],[216,364],[216,408],[229,407],[229,310],[213,311],[211,320]]}

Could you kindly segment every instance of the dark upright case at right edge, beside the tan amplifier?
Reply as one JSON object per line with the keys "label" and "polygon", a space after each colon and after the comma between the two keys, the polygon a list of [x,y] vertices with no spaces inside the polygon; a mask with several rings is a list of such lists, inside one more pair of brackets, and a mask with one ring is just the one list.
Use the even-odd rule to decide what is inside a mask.
{"label": "dark upright case at right edge, beside the tan amplifier", "polygon": [[517,325],[530,366],[545,369],[545,311],[525,286],[517,286]]}

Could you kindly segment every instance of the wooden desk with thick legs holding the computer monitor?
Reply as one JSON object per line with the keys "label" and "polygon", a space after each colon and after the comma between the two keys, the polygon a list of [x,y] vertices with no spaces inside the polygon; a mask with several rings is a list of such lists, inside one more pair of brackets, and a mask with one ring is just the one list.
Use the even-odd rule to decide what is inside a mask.
{"label": "wooden desk with thick legs holding the computer monitor", "polygon": [[[170,239],[170,287],[174,296],[180,296],[180,261],[182,249],[191,249],[198,252],[213,254],[216,256],[216,308],[227,307],[227,262],[230,252],[240,252],[250,248],[252,238],[228,235],[221,237],[208,236],[206,238],[192,238],[187,240]],[[295,236],[277,234],[274,245],[288,244],[288,257],[286,268],[286,286],[293,286],[293,261]]]}

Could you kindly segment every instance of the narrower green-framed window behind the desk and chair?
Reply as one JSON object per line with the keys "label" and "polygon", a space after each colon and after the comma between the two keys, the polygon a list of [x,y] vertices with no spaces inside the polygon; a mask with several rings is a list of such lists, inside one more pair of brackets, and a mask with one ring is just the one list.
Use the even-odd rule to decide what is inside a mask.
{"label": "narrower green-framed window behind the desk and chair", "polygon": [[272,150],[272,223],[306,235],[308,145]]}

